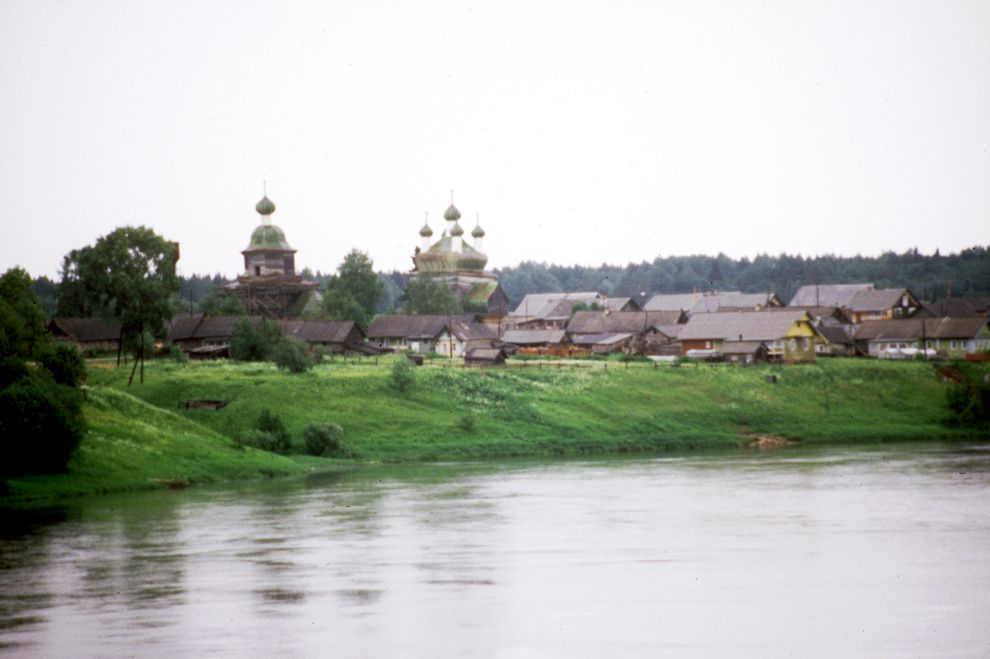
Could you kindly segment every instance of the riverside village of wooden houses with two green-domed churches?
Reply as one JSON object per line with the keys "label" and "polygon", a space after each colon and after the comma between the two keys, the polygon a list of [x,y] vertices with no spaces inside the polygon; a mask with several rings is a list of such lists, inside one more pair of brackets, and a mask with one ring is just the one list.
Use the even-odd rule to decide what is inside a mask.
{"label": "riverside village of wooden houses with two green-domed churches", "polygon": [[[260,222],[242,251],[244,269],[224,286],[243,303],[251,322],[269,319],[283,335],[335,355],[408,353],[462,359],[465,365],[502,365],[512,356],[578,358],[641,356],[681,359],[809,363],[833,356],[880,359],[990,357],[990,297],[922,301],[907,288],[872,283],[814,284],[790,300],[775,293],[709,290],[641,291],[609,298],[596,291],[525,295],[515,308],[498,277],[486,271],[485,231],[466,239],[451,201],[438,239],[429,223],[419,231],[411,278],[442,282],[470,313],[388,313],[367,328],[354,320],[312,318],[321,293],[296,272],[295,252],[272,222],[267,195],[255,210]],[[168,343],[193,359],[230,356],[237,316],[187,313],[168,325]],[[120,328],[100,318],[52,318],[56,340],[87,354],[116,351]]]}

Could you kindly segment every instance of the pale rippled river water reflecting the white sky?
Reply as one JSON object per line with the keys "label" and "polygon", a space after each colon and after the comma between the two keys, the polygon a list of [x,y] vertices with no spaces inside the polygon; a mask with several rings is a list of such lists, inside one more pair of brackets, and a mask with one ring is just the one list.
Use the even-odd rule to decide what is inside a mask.
{"label": "pale rippled river water reflecting the white sky", "polygon": [[990,448],[370,467],[7,511],[13,656],[990,656]]}

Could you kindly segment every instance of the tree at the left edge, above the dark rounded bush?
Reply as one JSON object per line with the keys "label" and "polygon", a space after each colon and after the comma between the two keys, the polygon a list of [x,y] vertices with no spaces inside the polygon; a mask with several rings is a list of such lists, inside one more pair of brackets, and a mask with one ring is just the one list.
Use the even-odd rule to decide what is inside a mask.
{"label": "tree at the left edge, above the dark rounded bush", "polygon": [[46,343],[45,313],[31,276],[11,268],[0,276],[0,355],[30,359]]}

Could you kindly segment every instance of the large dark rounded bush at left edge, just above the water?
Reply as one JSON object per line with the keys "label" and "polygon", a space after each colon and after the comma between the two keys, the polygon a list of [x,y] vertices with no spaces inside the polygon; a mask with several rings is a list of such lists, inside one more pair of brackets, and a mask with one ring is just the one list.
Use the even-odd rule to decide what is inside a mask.
{"label": "large dark rounded bush at left edge, just above the water", "polygon": [[85,432],[79,392],[40,377],[0,390],[0,476],[65,470]]}

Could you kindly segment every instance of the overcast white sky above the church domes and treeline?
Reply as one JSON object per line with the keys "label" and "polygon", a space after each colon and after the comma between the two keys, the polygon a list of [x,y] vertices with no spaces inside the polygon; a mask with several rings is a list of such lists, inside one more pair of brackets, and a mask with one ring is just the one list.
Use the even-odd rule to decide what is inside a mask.
{"label": "overcast white sky above the church domes and treeline", "polygon": [[0,0],[0,270],[124,224],[234,275],[990,243],[990,2]]}

